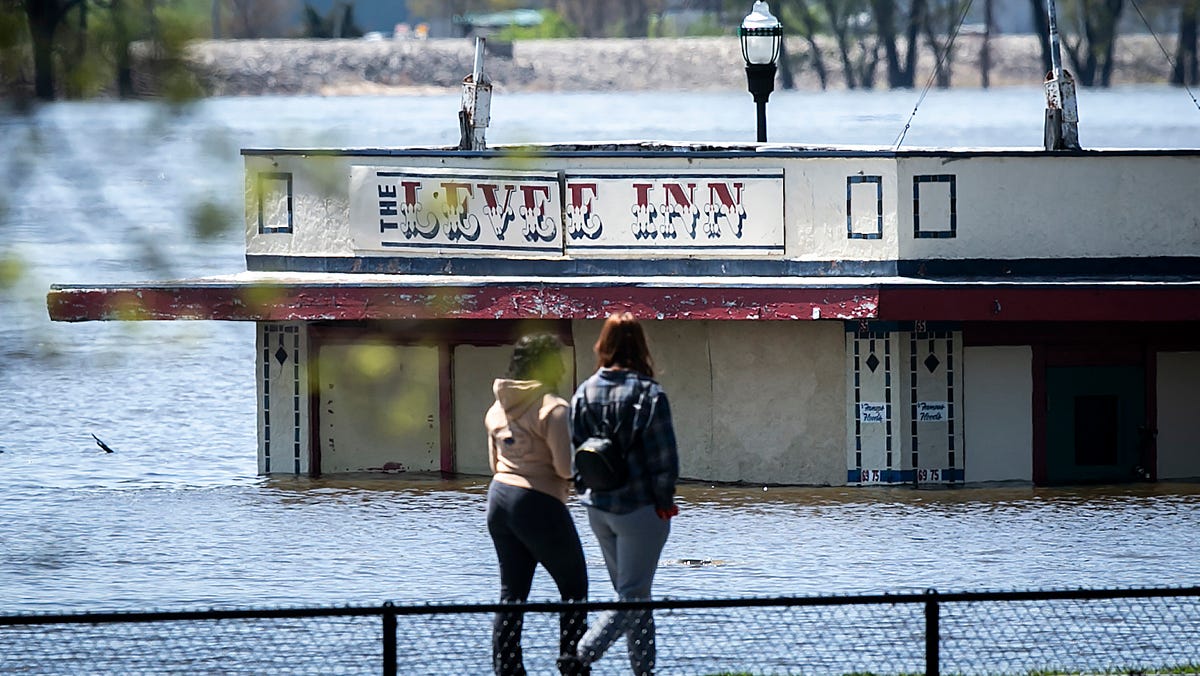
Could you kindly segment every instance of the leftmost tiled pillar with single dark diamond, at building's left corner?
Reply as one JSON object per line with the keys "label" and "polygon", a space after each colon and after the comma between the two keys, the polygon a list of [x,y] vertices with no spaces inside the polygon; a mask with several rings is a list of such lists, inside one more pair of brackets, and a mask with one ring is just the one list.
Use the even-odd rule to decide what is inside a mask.
{"label": "leftmost tiled pillar with single dark diamond, at building's left corner", "polygon": [[258,324],[258,473],[310,471],[308,334],[299,322]]}

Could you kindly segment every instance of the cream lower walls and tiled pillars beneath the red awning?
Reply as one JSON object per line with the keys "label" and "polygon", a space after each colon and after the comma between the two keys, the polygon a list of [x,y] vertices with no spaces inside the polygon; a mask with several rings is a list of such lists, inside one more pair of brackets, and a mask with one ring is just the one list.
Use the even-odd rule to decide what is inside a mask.
{"label": "cream lower walls and tiled pillars beneath the red awning", "polygon": [[[578,347],[568,348],[560,387],[566,399],[594,370],[590,346],[601,324],[571,323]],[[958,331],[932,325],[643,325],[672,403],[684,478],[809,485],[1032,480],[1028,346],[964,348]],[[307,331],[304,323],[258,325],[259,472],[312,469],[311,376],[318,381],[322,472],[442,469],[439,348],[354,342],[342,334],[313,354]],[[460,473],[490,474],[482,419],[511,349],[452,349]],[[1200,352],[1159,353],[1157,371],[1158,477],[1200,478]],[[862,473],[872,469],[880,475]]]}

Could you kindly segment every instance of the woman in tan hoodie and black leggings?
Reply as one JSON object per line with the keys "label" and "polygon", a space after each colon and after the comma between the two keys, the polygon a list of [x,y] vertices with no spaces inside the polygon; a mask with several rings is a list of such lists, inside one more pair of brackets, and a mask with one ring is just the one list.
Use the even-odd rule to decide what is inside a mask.
{"label": "woman in tan hoodie and black leggings", "polygon": [[[571,481],[569,408],[554,394],[562,379],[562,343],[551,335],[517,341],[504,378],[492,384],[496,403],[487,409],[487,531],[500,562],[500,602],[524,603],[534,569],[541,563],[563,600],[588,596],[588,574],[575,521],[566,510]],[[523,676],[521,611],[498,612],[492,627],[492,668],[497,675]],[[575,658],[583,635],[583,612],[559,618],[562,674],[583,674]]]}

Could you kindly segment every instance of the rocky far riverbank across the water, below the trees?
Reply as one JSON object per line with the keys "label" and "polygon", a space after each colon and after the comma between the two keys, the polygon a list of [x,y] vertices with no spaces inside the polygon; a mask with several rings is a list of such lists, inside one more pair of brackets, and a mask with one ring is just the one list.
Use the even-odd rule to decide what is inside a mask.
{"label": "rocky far riverbank across the water, below the trees", "polygon": [[[982,46],[979,35],[956,41],[949,64],[950,86],[980,85]],[[818,47],[828,71],[826,88],[846,89],[836,44],[822,40]],[[793,86],[821,89],[809,46],[793,38],[788,48]],[[991,86],[1042,82],[1037,37],[997,36],[991,38],[989,49]],[[918,61],[917,86],[924,86],[935,70],[928,52],[923,50]],[[1114,84],[1164,83],[1170,73],[1166,58],[1148,35],[1118,40],[1116,56]],[[191,47],[187,60],[202,90],[215,96],[420,95],[457,90],[472,71],[474,42],[466,38],[203,41]],[[499,91],[703,91],[746,85],[734,37],[520,41],[497,44],[485,60],[485,71]],[[139,80],[142,94],[155,94],[152,78]],[[876,68],[875,83],[887,85],[882,62]]]}

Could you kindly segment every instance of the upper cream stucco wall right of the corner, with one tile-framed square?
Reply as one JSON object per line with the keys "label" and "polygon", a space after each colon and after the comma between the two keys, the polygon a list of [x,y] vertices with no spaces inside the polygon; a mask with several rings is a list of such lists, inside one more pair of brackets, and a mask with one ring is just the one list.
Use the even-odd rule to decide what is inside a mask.
{"label": "upper cream stucco wall right of the corner, with one tile-framed square", "polygon": [[[898,169],[902,193],[900,257],[1142,257],[1194,252],[1200,250],[1200,215],[1193,199],[1198,171],[1196,157],[1175,156],[983,156],[954,162],[905,157]],[[913,237],[914,175],[954,177],[955,237]],[[941,204],[946,185],[922,184],[920,190]],[[932,215],[928,220],[929,228],[941,227]]]}

